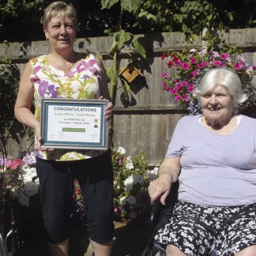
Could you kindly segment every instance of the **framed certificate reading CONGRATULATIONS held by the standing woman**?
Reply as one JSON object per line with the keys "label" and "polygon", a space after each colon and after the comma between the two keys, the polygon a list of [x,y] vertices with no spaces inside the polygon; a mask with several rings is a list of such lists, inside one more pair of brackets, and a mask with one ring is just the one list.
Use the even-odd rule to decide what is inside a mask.
{"label": "framed certificate reading CONGRATULATIONS held by the standing woman", "polygon": [[108,100],[43,98],[42,148],[108,149]]}

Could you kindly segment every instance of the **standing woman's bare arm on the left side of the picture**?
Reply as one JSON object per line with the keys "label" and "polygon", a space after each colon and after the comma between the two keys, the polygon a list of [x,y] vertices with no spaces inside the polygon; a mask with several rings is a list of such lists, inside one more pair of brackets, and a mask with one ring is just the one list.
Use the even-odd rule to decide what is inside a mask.
{"label": "standing woman's bare arm on the left side of the picture", "polygon": [[36,143],[39,143],[39,140],[41,140],[40,127],[38,120],[36,120],[35,115],[31,112],[31,103],[34,97],[33,84],[29,78],[31,71],[32,67],[29,61],[20,77],[19,92],[15,103],[14,113],[20,123],[35,129]]}

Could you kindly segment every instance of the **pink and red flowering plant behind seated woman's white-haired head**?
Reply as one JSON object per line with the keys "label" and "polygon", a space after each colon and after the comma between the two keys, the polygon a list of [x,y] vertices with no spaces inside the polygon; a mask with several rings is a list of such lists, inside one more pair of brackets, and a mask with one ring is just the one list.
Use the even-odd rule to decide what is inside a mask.
{"label": "pink and red flowering plant behind seated woman's white-haired head", "polygon": [[193,92],[209,68],[225,67],[238,74],[243,91],[248,95],[248,100],[241,105],[241,111],[256,105],[255,84],[252,82],[256,67],[250,65],[246,55],[235,47],[227,47],[220,52],[197,49],[183,49],[181,52],[166,51],[161,58],[164,61],[168,58],[167,70],[161,74],[163,90],[170,93],[175,102],[185,106],[191,115],[200,112],[200,106]]}

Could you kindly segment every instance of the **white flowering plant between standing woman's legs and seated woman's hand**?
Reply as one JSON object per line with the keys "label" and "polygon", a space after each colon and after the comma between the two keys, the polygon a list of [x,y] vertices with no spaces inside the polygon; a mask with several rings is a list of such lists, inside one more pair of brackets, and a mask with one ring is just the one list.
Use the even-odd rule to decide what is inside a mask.
{"label": "white flowering plant between standing woman's legs and seated woman's hand", "polygon": [[125,148],[112,148],[114,172],[115,218],[131,221],[138,218],[150,205],[148,184],[156,179],[158,168],[149,170],[143,152],[125,156]]}

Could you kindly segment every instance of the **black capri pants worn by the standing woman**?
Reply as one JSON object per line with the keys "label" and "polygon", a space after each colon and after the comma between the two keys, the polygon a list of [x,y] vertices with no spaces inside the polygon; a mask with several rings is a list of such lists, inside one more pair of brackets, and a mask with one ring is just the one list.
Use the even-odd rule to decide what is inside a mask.
{"label": "black capri pants worn by the standing woman", "polygon": [[49,161],[36,157],[44,226],[50,243],[69,237],[74,179],[81,187],[89,236],[96,243],[113,239],[111,150],[90,159]]}

